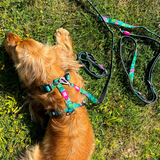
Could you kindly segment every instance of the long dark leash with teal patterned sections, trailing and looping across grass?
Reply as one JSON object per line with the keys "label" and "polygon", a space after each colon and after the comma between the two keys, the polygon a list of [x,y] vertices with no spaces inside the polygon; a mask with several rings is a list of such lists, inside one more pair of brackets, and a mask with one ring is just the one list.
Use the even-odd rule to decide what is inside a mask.
{"label": "long dark leash with teal patterned sections, trailing and looping across grass", "polygon": [[[112,34],[112,58],[111,58],[111,74],[110,74],[110,77],[109,77],[109,81],[108,83],[106,83],[105,85],[105,88],[102,92],[102,96],[100,98],[100,102],[103,102],[104,100],[104,95],[106,96],[106,92],[107,92],[107,89],[108,89],[108,84],[111,80],[111,75],[112,75],[112,70],[113,70],[113,50],[114,50],[114,33],[113,31],[109,28],[108,24],[111,24],[111,25],[117,25],[117,26],[121,26],[121,27],[125,27],[125,28],[132,28],[132,29],[135,29],[135,28],[142,28],[144,30],[146,30],[147,32],[155,35],[156,37],[160,38],[160,36],[154,32],[152,32],[151,30],[143,27],[143,26],[133,26],[133,25],[129,25],[129,24],[126,24],[122,21],[119,21],[119,20],[116,20],[116,19],[111,19],[109,17],[105,17],[105,16],[102,16],[99,11],[95,8],[95,6],[89,1],[87,0],[90,5],[93,7],[93,9],[98,13],[99,15],[99,20],[104,22],[106,27],[108,28],[108,30],[111,32]],[[143,102],[145,103],[154,103],[156,100],[157,100],[157,94],[154,90],[154,86],[153,86],[153,83],[152,83],[152,73],[153,73],[153,69],[154,69],[154,66],[155,64],[157,63],[158,59],[160,58],[160,53],[156,56],[151,68],[150,68],[150,71],[149,71],[149,75],[148,75],[148,84],[150,85],[150,89],[151,89],[151,92],[152,92],[152,100],[146,100],[144,98],[144,96],[137,90],[134,89],[133,87],[133,78],[134,78],[134,71],[135,71],[135,63],[136,63],[136,59],[137,59],[137,42],[136,40],[133,38],[133,37],[137,37],[137,38],[145,38],[145,39],[150,39],[152,41],[155,41],[157,43],[160,44],[160,42],[154,38],[151,38],[151,37],[147,37],[147,36],[143,36],[143,35],[135,35],[135,34],[131,34],[130,32],[126,31],[126,30],[121,30],[121,28],[119,28],[120,32],[122,34],[124,34],[125,36],[123,36],[120,40],[120,56],[121,56],[121,60],[122,60],[122,64],[123,64],[123,67],[124,67],[124,70],[129,78],[129,82],[130,82],[130,86],[131,86],[131,91]],[[130,72],[128,73],[127,70],[126,70],[126,67],[125,67],[125,64],[124,64],[124,61],[123,61],[123,56],[122,56],[122,42],[123,42],[123,39],[124,38],[128,38],[128,39],[131,39],[135,45],[136,45],[136,49],[135,49],[135,54],[134,54],[134,57],[133,57],[133,60],[132,60],[132,63],[131,63],[131,67],[130,67]]]}

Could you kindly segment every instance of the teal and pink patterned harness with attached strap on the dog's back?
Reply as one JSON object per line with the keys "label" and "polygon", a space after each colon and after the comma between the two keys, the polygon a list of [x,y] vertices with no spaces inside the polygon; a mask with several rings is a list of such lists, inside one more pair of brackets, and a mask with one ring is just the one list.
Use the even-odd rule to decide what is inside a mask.
{"label": "teal and pink patterned harness with attached strap on the dog's back", "polygon": [[55,79],[51,84],[40,86],[40,88],[45,92],[51,92],[54,88],[57,88],[66,103],[66,108],[64,110],[50,111],[49,112],[50,117],[59,116],[63,113],[67,113],[68,115],[73,114],[75,112],[75,108],[84,106],[85,104],[85,100],[81,104],[72,103],[63,85],[69,85],[73,87],[77,92],[80,92],[81,94],[85,95],[93,103],[99,104],[99,101],[93,95],[79,88],[77,85],[69,82],[69,80],[70,80],[70,75],[69,73],[67,73],[64,75],[64,77]]}

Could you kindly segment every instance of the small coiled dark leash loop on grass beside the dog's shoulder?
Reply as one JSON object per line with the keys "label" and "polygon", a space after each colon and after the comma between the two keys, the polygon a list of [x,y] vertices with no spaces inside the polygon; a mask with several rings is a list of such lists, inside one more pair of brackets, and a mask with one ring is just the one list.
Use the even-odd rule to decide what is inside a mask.
{"label": "small coiled dark leash loop on grass beside the dog's shoulder", "polygon": [[[103,67],[103,64],[98,64],[94,55],[92,53],[88,53],[82,51],[78,54],[78,59],[80,60],[83,67],[94,77],[96,78],[103,78],[107,75],[107,70]],[[91,64],[96,67],[101,74],[96,74],[94,71],[91,70]]]}

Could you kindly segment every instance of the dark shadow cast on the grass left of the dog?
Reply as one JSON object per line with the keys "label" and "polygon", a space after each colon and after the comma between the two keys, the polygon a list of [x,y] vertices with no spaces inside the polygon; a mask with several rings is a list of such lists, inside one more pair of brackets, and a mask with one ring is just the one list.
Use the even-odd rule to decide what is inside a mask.
{"label": "dark shadow cast on the grass left of the dog", "polygon": [[27,96],[27,94],[24,91],[25,88],[22,87],[23,85],[20,83],[18,74],[13,67],[14,64],[7,52],[5,51],[4,46],[0,46],[0,54],[0,94],[4,98],[6,98],[6,96],[15,98],[19,108],[21,108],[19,113],[15,113],[15,118],[18,119],[19,114],[22,114],[23,118],[21,118],[20,120],[23,124],[25,124],[25,126],[27,126],[29,130],[29,136],[27,137],[31,138],[31,144],[35,144],[36,142],[42,140],[44,136],[45,128],[48,122],[48,116],[45,117],[45,127],[42,127],[40,123],[36,123],[31,120],[28,104],[22,107],[25,101],[27,100],[25,98]]}

